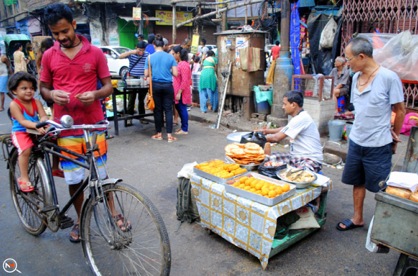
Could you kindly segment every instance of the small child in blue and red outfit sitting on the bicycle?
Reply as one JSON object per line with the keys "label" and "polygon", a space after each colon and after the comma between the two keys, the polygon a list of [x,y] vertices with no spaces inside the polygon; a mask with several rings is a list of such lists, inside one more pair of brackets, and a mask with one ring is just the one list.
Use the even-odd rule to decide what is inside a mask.
{"label": "small child in blue and red outfit sitting on the bicycle", "polygon": [[26,129],[35,129],[40,134],[45,134],[44,128],[37,129],[36,124],[48,120],[48,116],[39,100],[33,99],[37,88],[34,76],[27,72],[17,72],[8,82],[8,89],[16,95],[16,99],[10,103],[12,115],[12,141],[19,153],[20,177],[18,183],[23,192],[31,192],[34,187],[29,181],[28,164],[33,142]]}

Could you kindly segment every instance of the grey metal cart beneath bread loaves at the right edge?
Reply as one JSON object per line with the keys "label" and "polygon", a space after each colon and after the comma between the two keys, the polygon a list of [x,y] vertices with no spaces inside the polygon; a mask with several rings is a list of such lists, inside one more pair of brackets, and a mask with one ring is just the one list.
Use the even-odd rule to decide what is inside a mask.
{"label": "grey metal cart beneath bread loaves at the right edge", "polygon": [[[417,169],[418,127],[413,127],[402,172],[417,173]],[[371,241],[401,253],[394,276],[415,275],[418,273],[418,203],[384,190],[378,192],[375,199]]]}

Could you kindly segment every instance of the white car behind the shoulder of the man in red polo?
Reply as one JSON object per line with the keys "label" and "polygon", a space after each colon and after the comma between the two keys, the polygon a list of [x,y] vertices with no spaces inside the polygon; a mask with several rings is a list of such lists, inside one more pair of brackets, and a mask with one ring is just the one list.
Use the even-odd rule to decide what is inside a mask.
{"label": "white car behind the shoulder of the man in red polo", "polygon": [[129,70],[129,60],[119,59],[119,55],[131,49],[121,46],[98,46],[102,49],[107,60],[110,74],[114,77],[122,77],[126,70]]}

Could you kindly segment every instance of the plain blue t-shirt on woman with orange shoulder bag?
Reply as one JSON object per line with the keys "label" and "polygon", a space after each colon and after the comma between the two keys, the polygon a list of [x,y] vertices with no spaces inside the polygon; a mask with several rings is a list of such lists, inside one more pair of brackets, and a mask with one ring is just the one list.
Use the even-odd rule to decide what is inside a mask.
{"label": "plain blue t-shirt on woman with orange shoulder bag", "polygon": [[[149,69],[149,58],[151,58],[151,56],[148,56],[147,60],[145,61],[145,69]],[[177,66],[176,59],[173,57],[173,55],[170,55],[164,51],[155,52],[154,54],[152,54],[152,58],[150,61],[152,81],[166,83],[173,82],[171,67]]]}

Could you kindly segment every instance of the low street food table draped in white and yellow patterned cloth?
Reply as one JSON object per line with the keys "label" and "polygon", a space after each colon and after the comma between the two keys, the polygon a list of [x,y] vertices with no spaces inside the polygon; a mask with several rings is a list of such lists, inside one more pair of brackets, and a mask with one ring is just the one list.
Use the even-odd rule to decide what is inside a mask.
{"label": "low street food table draped in white and yellow patterned cloth", "polygon": [[[253,172],[251,174],[256,175]],[[289,230],[283,239],[278,240],[274,237],[278,226],[277,219],[280,216],[313,201],[315,206],[318,206],[319,201],[315,219],[320,227],[325,224],[327,195],[328,190],[332,188],[332,181],[328,177],[317,175],[318,179],[306,188],[296,189],[294,185],[295,189],[289,197],[270,206],[231,192],[229,185],[237,181],[239,175],[233,176],[235,179],[229,182],[214,181],[216,178],[194,170],[190,182],[202,227],[256,256],[265,269],[269,258],[319,229]],[[280,182],[267,176],[263,176],[262,179],[270,180],[272,183]]]}

